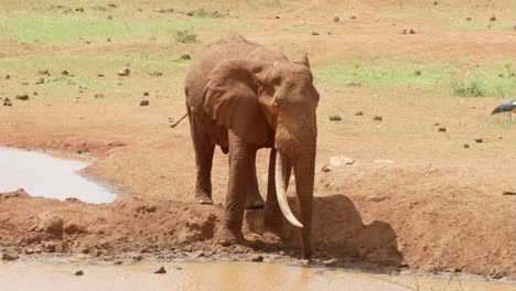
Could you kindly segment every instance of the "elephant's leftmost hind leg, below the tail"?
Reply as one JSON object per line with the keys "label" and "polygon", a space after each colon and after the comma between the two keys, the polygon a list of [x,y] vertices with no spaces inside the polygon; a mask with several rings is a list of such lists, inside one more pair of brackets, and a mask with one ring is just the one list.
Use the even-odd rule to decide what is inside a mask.
{"label": "elephant's leftmost hind leg, below the tail", "polygon": [[212,164],[215,144],[209,136],[202,130],[202,125],[189,112],[190,130],[195,150],[197,177],[194,200],[200,204],[213,204],[212,201]]}

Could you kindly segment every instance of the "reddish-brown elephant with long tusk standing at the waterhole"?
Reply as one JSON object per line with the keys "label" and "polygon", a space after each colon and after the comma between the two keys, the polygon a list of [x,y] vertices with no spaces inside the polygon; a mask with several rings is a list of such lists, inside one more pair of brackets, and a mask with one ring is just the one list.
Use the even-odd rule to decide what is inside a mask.
{"label": "reddish-brown elephant with long tusk standing at the waterhole", "polygon": [[[301,62],[289,62],[282,53],[238,35],[216,41],[196,55],[186,75],[185,95],[198,203],[212,202],[215,146],[229,153],[229,181],[224,220],[216,234],[218,241],[234,244],[244,239],[246,197],[248,206],[259,204],[261,198],[256,182],[256,151],[271,148],[266,229],[279,234],[282,212],[287,220],[301,228],[303,258],[311,257],[319,103],[312,80],[307,56]],[[292,168],[301,222],[287,202]]]}

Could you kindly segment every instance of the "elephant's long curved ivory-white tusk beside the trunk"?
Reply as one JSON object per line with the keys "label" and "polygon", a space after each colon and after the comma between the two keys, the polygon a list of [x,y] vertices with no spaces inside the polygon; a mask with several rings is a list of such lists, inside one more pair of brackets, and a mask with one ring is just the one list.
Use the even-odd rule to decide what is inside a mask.
{"label": "elephant's long curved ivory-white tusk beside the trunk", "polygon": [[[290,168],[290,169],[289,169]],[[303,227],[303,225],[295,218],[290,209],[289,202],[287,201],[287,187],[289,185],[290,179],[290,171],[291,166],[288,165],[284,161],[284,158],[278,151],[278,155],[276,158],[276,173],[275,173],[275,181],[276,181],[276,192],[278,197],[278,203],[283,213],[284,217],[289,223],[297,227]],[[287,181],[286,181],[287,180]]]}

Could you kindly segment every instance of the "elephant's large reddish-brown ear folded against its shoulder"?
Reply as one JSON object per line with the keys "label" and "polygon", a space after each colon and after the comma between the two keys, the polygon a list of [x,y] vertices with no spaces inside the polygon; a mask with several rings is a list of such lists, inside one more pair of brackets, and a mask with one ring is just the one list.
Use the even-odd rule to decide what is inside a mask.
{"label": "elephant's large reddish-brown ear folded against its shoulder", "polygon": [[233,130],[252,144],[266,144],[270,129],[258,101],[260,84],[255,74],[271,64],[234,60],[217,65],[204,86],[204,110],[218,126]]}

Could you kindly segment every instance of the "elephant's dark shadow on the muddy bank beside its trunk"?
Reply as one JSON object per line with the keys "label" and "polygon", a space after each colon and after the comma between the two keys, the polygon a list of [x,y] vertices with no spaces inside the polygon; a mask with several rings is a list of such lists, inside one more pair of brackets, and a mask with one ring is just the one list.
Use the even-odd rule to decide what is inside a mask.
{"label": "elephant's dark shadow on the muddy bank beside its trunk", "polygon": [[[289,204],[297,205],[295,198]],[[298,230],[289,228],[291,235],[284,242],[299,247]],[[402,261],[393,227],[380,220],[364,224],[353,202],[343,194],[314,197],[313,238],[316,257],[390,266]]]}

